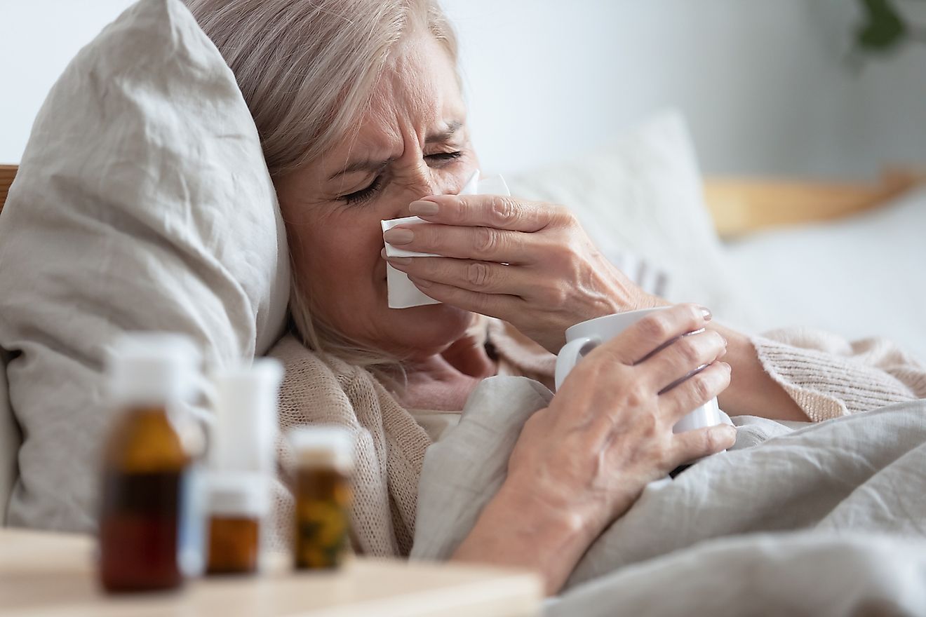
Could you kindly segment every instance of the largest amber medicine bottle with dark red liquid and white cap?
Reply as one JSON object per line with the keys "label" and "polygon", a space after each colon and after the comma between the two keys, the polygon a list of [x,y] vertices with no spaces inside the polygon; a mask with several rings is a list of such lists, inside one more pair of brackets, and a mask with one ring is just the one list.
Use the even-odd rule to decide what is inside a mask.
{"label": "largest amber medicine bottle with dark red liquid and white cap", "polygon": [[100,580],[107,591],[180,586],[202,560],[195,461],[203,436],[184,404],[199,352],[179,335],[118,339],[107,376],[115,406],[103,456]]}

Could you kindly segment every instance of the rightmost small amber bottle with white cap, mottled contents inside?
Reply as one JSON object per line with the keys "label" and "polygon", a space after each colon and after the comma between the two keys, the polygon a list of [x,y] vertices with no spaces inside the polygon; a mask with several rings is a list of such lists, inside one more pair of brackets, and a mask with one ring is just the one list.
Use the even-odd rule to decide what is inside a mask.
{"label": "rightmost small amber bottle with white cap, mottled contents inside", "polygon": [[349,547],[354,438],[342,426],[301,426],[294,450],[294,567],[336,568]]}

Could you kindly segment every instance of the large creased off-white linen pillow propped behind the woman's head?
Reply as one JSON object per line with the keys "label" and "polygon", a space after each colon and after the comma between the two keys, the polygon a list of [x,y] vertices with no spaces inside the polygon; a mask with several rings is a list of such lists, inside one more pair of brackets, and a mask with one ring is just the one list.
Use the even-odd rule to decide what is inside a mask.
{"label": "large creased off-white linen pillow propped behind the woman's head", "polygon": [[0,346],[25,441],[9,523],[94,528],[124,330],[171,330],[217,366],[284,326],[288,254],[257,129],[179,0],[131,6],[70,63],[0,216]]}

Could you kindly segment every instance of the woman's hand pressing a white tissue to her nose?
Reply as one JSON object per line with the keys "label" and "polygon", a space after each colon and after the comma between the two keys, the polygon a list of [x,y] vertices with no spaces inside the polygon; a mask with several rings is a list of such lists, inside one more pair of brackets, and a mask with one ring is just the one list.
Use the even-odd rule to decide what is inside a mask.
{"label": "woman's hand pressing a white tissue to her nose", "polygon": [[385,240],[444,257],[389,263],[435,300],[503,319],[550,352],[562,347],[569,326],[665,303],[611,265],[562,206],[437,195],[409,210],[436,225],[392,228]]}

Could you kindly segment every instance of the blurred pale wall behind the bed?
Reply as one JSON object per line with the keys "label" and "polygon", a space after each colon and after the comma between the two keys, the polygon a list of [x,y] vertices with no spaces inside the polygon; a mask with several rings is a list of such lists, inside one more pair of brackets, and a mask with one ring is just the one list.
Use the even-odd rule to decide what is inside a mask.
{"label": "blurred pale wall behind the bed", "polygon": [[[130,4],[0,0],[0,162],[19,161],[69,58]],[[889,161],[926,165],[926,46],[851,70],[855,2],[444,5],[487,168],[569,157],[667,105],[689,117],[710,173],[855,176]]]}

